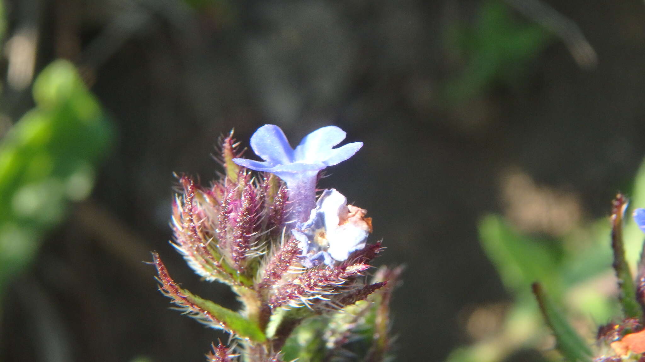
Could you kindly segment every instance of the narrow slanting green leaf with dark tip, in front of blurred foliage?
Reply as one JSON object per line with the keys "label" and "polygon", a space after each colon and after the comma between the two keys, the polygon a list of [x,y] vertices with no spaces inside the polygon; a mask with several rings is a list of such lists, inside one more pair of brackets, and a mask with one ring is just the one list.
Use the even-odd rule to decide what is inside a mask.
{"label": "narrow slanting green leaf with dark tip, in front of blurred foliage", "polygon": [[590,361],[589,346],[549,300],[539,283],[533,283],[533,294],[537,299],[542,316],[555,334],[558,349],[562,355],[570,362]]}

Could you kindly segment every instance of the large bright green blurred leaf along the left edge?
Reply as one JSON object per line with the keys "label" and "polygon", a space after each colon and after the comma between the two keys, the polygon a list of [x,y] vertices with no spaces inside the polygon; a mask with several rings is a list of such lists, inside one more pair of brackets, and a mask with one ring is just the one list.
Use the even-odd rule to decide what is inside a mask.
{"label": "large bright green blurred leaf along the left edge", "polygon": [[29,265],[66,205],[94,185],[112,129],[74,65],[55,61],[35,79],[35,108],[0,144],[0,296]]}

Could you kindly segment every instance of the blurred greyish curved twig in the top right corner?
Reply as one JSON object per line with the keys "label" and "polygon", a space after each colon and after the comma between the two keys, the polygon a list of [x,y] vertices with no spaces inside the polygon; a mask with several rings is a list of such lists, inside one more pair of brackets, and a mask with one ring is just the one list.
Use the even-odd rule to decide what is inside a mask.
{"label": "blurred greyish curved twig in the top right corner", "polygon": [[512,8],[559,37],[581,68],[593,69],[598,56],[580,27],[540,0],[504,0]]}

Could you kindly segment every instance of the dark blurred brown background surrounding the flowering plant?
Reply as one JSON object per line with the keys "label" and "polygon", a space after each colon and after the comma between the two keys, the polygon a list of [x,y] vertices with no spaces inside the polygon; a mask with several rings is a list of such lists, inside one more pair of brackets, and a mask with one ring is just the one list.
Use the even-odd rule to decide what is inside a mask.
{"label": "dark blurred brown background surrounding the flowering plant", "polygon": [[566,233],[608,213],[645,152],[639,0],[3,6],[3,132],[59,58],[112,129],[92,194],[6,286],[4,361],[203,360],[223,335],[168,310],[143,262],[158,251],[188,289],[235,307],[168,244],[173,173],[217,177],[211,154],[232,128],[246,144],[277,124],[296,143],[335,124],[364,142],[322,184],[368,209],[388,247],[379,263],[407,266],[393,302],[400,361],[443,360],[472,341],[469,311],[506,300],[477,242],[482,214]]}

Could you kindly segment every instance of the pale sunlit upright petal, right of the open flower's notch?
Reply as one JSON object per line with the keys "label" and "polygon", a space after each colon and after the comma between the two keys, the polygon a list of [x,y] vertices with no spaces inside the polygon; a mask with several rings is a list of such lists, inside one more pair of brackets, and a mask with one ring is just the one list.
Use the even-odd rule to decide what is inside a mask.
{"label": "pale sunlit upright petal, right of the open flower's notch", "polygon": [[316,129],[306,135],[295,148],[295,160],[317,162],[330,157],[333,146],[341,143],[346,137],[345,131],[336,126]]}

